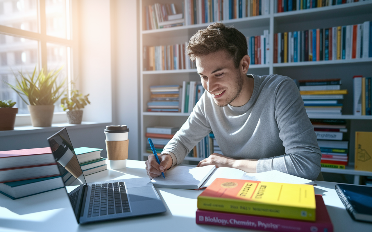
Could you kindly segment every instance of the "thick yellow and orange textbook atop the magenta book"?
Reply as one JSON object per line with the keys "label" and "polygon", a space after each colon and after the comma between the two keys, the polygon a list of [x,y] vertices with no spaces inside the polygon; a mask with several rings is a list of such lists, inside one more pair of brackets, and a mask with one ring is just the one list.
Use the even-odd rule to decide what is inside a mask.
{"label": "thick yellow and orange textbook atop the magenta book", "polygon": [[217,178],[198,196],[198,209],[315,221],[310,184]]}

